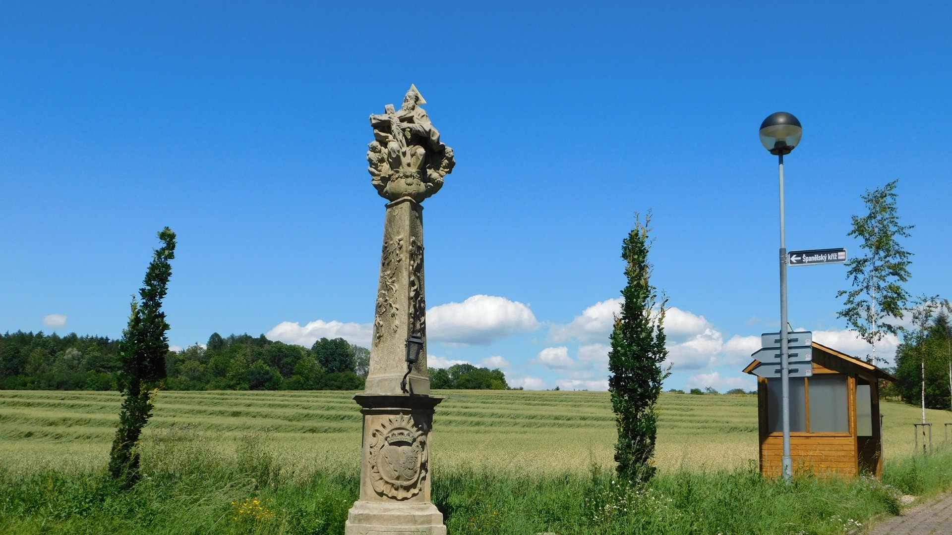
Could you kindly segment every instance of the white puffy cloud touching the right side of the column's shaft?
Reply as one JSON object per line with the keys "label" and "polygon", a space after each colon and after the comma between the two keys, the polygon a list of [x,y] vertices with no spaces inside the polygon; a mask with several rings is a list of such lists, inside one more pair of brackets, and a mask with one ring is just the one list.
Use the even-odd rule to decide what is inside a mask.
{"label": "white puffy cloud touching the right side of the column's shaft", "polygon": [[463,303],[446,303],[426,311],[426,331],[432,342],[486,346],[537,328],[539,322],[529,307],[494,295],[474,295]]}

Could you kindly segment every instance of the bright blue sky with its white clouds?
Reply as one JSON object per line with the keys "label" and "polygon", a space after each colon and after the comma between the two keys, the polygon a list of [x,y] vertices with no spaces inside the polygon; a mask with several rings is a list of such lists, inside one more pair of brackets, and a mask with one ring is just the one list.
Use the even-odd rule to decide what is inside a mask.
{"label": "bright blue sky with its white clouds", "polygon": [[[773,111],[804,131],[787,248],[860,253],[861,194],[899,179],[907,289],[952,294],[949,20],[947,2],[4,2],[0,330],[119,337],[169,226],[171,344],[368,346],[367,115],[413,83],[457,160],[424,204],[431,365],[604,388],[621,242],[652,210],[665,387],[752,387],[752,337],[780,317]],[[864,353],[836,318],[843,266],[789,277],[793,327]]]}

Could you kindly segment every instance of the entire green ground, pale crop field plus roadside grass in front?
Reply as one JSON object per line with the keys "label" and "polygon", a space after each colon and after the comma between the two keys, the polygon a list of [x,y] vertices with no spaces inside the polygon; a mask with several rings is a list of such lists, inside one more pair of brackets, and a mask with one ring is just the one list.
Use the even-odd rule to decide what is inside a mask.
{"label": "entire green ground, pale crop field plus roadside grass in front", "polygon": [[[882,406],[883,481],[897,488],[867,478],[790,487],[757,474],[755,396],[664,393],[659,476],[631,489],[612,478],[606,392],[436,393],[446,400],[434,419],[434,502],[451,533],[842,533],[896,512],[898,492],[952,486],[952,455],[940,447],[948,413],[928,415],[941,451],[915,458],[915,406]],[[147,479],[130,497],[101,477],[117,394],[0,390],[0,533],[144,523],[155,533],[339,533],[359,485],[351,396],[160,392],[142,445]]]}

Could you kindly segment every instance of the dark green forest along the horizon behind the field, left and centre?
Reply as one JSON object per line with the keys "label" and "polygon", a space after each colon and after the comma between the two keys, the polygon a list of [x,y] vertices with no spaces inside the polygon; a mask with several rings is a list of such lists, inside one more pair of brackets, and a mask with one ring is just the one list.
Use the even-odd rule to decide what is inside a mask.
{"label": "dark green forest along the horizon behind the field, left and centre", "polygon": [[[0,388],[116,390],[118,340],[60,336],[42,331],[0,335]],[[268,340],[262,334],[213,333],[204,347],[166,355],[170,390],[362,390],[370,350],[343,338],[322,338],[310,348]],[[468,364],[429,368],[433,388],[505,389],[499,369]]]}

